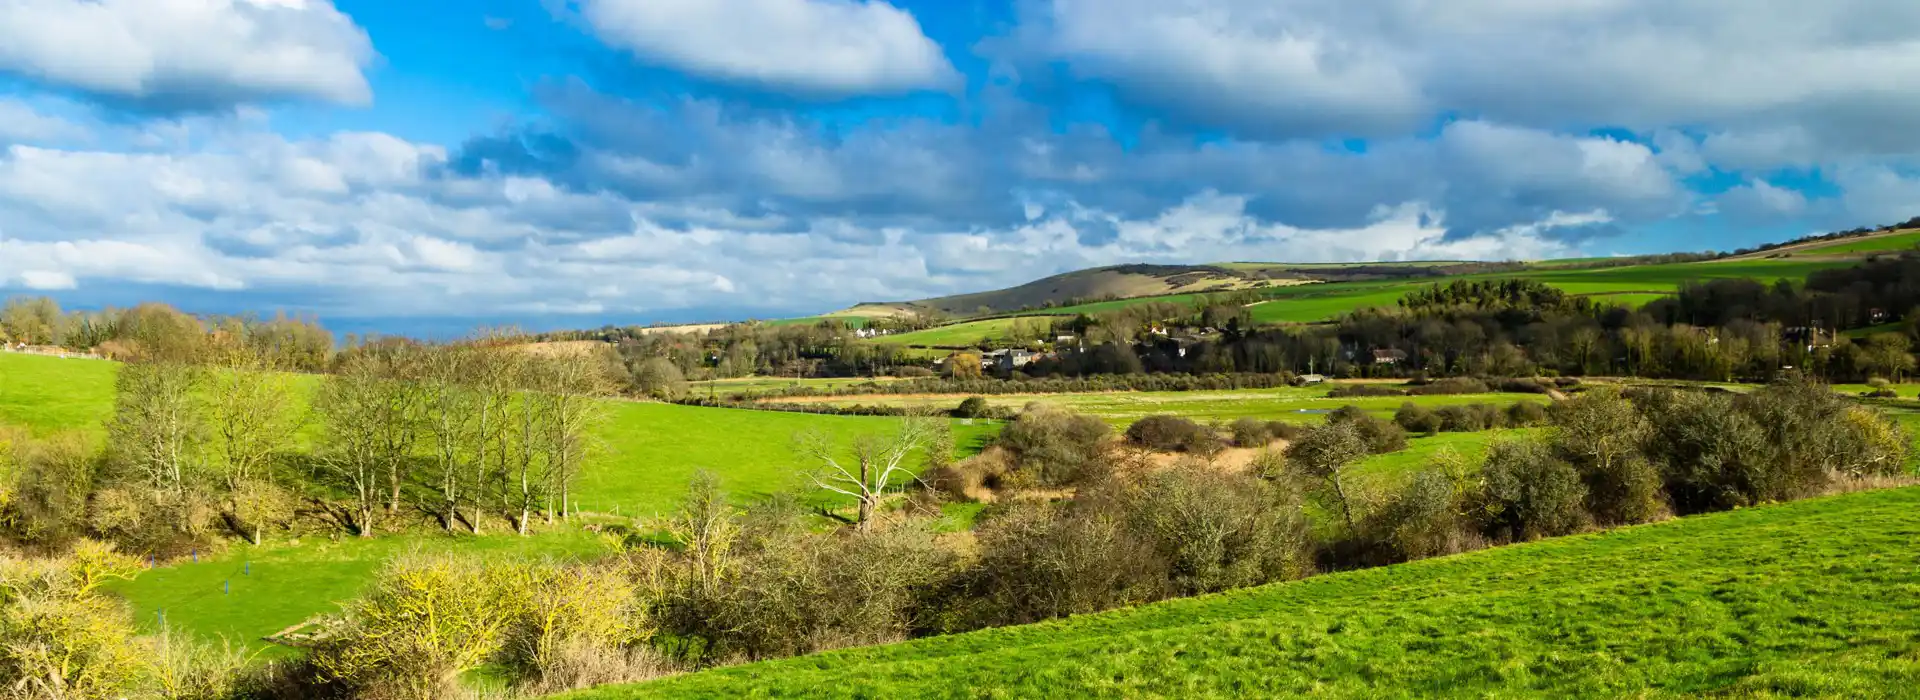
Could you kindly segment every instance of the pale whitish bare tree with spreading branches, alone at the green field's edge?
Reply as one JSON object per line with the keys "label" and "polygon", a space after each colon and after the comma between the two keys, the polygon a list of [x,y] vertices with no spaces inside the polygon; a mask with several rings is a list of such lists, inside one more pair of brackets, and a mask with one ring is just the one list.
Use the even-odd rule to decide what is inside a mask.
{"label": "pale whitish bare tree with spreading branches, alone at the green field's edge", "polygon": [[912,416],[900,422],[900,432],[891,437],[860,435],[852,443],[852,460],[845,460],[833,441],[824,433],[801,437],[801,451],[820,464],[820,470],[806,478],[820,489],[852,497],[858,502],[854,527],[872,529],[874,510],[895,487],[895,479],[908,476],[908,458],[925,447],[935,433],[937,418]]}

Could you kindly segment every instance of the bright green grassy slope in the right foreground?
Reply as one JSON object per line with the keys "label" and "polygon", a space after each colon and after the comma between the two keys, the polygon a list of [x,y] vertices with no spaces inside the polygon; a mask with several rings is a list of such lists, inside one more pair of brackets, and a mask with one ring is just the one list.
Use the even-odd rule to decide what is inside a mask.
{"label": "bright green grassy slope in the right foreground", "polygon": [[566,698],[1897,698],[1916,537],[1855,493]]}

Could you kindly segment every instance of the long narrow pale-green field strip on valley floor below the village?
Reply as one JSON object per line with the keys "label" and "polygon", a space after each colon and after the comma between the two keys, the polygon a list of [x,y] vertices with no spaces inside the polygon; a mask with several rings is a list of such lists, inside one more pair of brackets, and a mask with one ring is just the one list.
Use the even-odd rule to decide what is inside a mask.
{"label": "long narrow pale-green field strip on valley floor below the village", "polygon": [[[902,405],[902,407],[943,407],[960,405],[958,395],[912,395],[912,397],[833,397],[808,399],[808,403],[828,405]],[[1116,426],[1127,426],[1152,414],[1175,414],[1194,420],[1261,418],[1311,422],[1321,414],[1356,405],[1379,416],[1392,416],[1402,403],[1413,401],[1423,407],[1452,407],[1467,403],[1511,405],[1515,401],[1546,403],[1548,397],[1536,393],[1469,393],[1446,397],[1359,397],[1329,399],[1327,387],[1279,387],[1279,389],[1231,389],[1231,391],[1106,391],[1106,393],[1039,393],[1039,395],[996,395],[985,397],[991,407],[1020,408],[1033,401],[1054,403],[1075,412],[1104,418]]]}

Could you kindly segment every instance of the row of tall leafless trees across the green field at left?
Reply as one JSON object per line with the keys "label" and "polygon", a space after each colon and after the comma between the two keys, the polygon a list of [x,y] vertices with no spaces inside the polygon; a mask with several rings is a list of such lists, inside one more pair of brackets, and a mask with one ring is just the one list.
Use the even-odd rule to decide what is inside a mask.
{"label": "row of tall leafless trees across the green field at left", "polygon": [[568,514],[612,384],[588,355],[386,343],[346,355],[309,403],[252,345],[205,338],[196,362],[121,368],[104,451],[84,435],[0,439],[13,539],[169,556],[301,516],[361,537],[422,516],[528,533]]}

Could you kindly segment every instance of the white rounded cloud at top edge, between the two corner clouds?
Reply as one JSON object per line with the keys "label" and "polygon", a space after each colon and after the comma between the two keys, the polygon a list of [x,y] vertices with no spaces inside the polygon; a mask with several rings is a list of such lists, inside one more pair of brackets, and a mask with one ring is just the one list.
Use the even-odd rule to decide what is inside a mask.
{"label": "white rounded cloud at top edge, between the two corner clouds", "polygon": [[960,81],[920,21],[883,0],[582,0],[580,12],[611,46],[726,82],[856,96]]}

